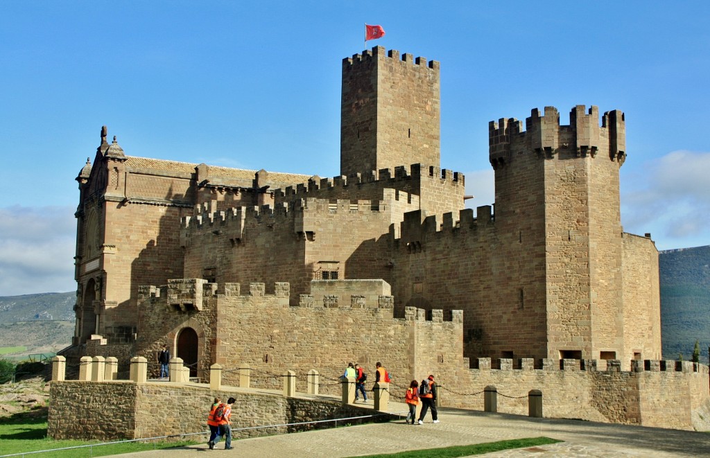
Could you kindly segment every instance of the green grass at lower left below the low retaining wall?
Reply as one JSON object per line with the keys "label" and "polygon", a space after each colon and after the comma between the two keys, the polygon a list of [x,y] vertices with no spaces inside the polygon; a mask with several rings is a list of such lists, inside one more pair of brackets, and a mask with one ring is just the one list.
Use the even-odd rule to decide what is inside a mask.
{"label": "green grass at lower left below the low retaining wall", "polygon": [[[36,450],[57,449],[62,447],[75,447],[77,445],[95,444],[99,441],[84,440],[53,440],[47,437],[47,416],[46,413],[36,416],[23,413],[13,415],[10,418],[0,419],[0,456],[4,454],[34,452]],[[170,447],[181,447],[182,445],[196,444],[196,441],[180,442],[129,442],[116,445],[101,445],[85,447],[82,449],[61,450],[58,452],[48,452],[33,454],[38,458],[84,458],[100,457],[110,454],[121,454],[128,452],[141,452],[143,450],[164,449]]]}

